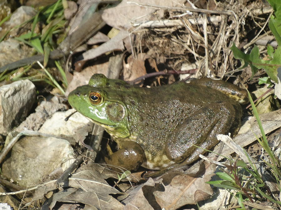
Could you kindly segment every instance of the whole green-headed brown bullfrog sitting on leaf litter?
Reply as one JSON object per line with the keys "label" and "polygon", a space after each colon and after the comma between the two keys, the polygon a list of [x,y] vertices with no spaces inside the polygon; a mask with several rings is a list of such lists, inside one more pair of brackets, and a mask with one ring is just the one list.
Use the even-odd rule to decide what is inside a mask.
{"label": "whole green-headed brown bullfrog sitting on leaf litter", "polygon": [[68,101],[118,144],[108,164],[159,170],[189,164],[218,142],[218,134],[235,134],[242,116],[238,101],[246,97],[246,90],[208,78],[144,88],[95,74]]}

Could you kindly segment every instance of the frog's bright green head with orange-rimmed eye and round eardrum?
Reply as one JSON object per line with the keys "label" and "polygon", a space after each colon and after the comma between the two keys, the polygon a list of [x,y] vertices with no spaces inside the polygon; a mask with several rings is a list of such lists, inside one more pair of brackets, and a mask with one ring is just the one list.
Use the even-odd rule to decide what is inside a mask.
{"label": "frog's bright green head with orange-rimmed eye and round eardrum", "polygon": [[127,86],[126,82],[95,74],[88,85],[77,87],[69,94],[68,102],[74,109],[105,128],[114,137],[126,138],[129,136],[128,110],[118,96],[118,91],[121,91],[123,85]]}

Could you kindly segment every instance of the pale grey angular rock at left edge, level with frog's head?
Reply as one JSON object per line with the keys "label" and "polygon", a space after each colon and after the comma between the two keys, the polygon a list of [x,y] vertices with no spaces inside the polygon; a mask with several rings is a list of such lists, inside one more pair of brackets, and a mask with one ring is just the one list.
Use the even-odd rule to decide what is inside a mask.
{"label": "pale grey angular rock at left edge, level with frog's head", "polygon": [[35,101],[34,84],[20,80],[0,87],[0,134],[6,136],[13,126],[21,123]]}

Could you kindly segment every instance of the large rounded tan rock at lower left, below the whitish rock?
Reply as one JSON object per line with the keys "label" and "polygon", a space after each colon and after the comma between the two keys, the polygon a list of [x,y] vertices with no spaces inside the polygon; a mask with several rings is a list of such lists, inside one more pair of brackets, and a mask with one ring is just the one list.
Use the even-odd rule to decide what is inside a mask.
{"label": "large rounded tan rock at lower left, below the whitish rock", "polygon": [[55,169],[66,170],[75,160],[69,142],[61,138],[24,137],[2,165],[2,175],[22,187],[38,184]]}

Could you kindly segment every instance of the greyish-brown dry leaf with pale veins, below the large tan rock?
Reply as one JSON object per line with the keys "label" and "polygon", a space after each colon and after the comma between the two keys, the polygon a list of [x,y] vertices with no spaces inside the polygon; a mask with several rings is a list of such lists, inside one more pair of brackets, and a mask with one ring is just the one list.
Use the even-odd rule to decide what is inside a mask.
{"label": "greyish-brown dry leaf with pale veins, below the large tan rock", "polygon": [[[123,208],[123,204],[118,200],[123,200],[128,195],[111,187],[105,180],[108,176],[100,173],[101,168],[102,166],[96,164],[80,167],[63,185],[67,189],[53,194],[50,198],[50,201],[53,201],[50,207],[53,207],[57,201],[71,201],[84,203],[98,209]],[[55,182],[37,188],[32,201],[42,199],[47,192],[54,189],[57,189]],[[111,195],[115,195],[115,198]]]}

